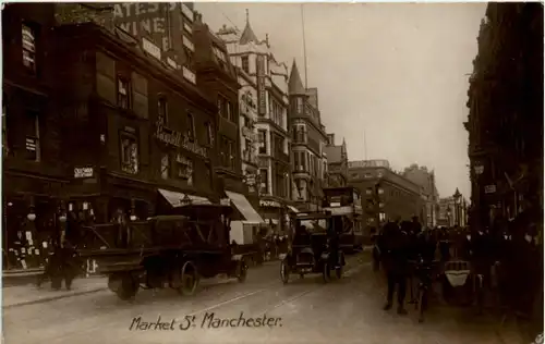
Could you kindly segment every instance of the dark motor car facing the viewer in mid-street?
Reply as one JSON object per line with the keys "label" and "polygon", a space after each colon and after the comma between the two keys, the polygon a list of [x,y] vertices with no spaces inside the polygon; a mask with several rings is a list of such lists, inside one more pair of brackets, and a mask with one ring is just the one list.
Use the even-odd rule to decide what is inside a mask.
{"label": "dark motor car facing the viewer in mid-street", "polygon": [[303,278],[307,273],[322,273],[329,282],[331,272],[340,279],[346,266],[339,245],[341,229],[335,228],[330,213],[299,214],[294,219],[295,233],[288,254],[280,255],[280,278],[286,284],[291,274]]}

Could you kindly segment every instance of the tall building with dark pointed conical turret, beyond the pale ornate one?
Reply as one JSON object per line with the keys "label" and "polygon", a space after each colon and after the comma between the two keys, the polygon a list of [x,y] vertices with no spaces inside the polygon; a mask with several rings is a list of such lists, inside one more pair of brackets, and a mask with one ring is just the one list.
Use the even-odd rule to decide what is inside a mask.
{"label": "tall building with dark pointed conical turret, beyond the pale ornate one", "polygon": [[327,173],[327,157],[324,155],[327,136],[318,110],[318,91],[303,86],[295,61],[290,73],[289,95],[292,199],[299,210],[316,211],[324,198],[322,188]]}

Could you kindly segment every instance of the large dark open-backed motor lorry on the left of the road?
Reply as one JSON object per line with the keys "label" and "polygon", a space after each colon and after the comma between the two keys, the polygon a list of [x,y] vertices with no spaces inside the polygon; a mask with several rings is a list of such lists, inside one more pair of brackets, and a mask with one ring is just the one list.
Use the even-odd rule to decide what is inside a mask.
{"label": "large dark open-backed motor lorry on the left of the road", "polygon": [[128,225],[87,226],[78,255],[94,259],[108,287],[124,300],[140,287],[193,295],[201,278],[222,273],[244,282],[244,256],[233,254],[229,244],[231,211],[230,206],[189,205],[175,214]]}

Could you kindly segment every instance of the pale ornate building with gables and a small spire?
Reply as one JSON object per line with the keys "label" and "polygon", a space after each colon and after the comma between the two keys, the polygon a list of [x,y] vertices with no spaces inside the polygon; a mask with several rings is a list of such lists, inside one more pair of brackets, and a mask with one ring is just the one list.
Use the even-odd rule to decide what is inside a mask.
{"label": "pale ornate building with gables and a small spire", "polygon": [[[253,133],[257,136],[256,185],[259,193],[259,212],[275,231],[284,231],[288,229],[291,181],[288,69],[284,63],[275,59],[268,37],[265,40],[257,39],[250,25],[247,12],[246,25],[242,33],[223,26],[217,35],[226,41],[231,62],[243,75],[242,93],[252,95],[252,88],[256,90],[252,101],[255,100],[257,116],[256,121],[249,125],[254,125]],[[250,142],[247,144],[252,145]],[[244,147],[247,147],[246,142]]]}

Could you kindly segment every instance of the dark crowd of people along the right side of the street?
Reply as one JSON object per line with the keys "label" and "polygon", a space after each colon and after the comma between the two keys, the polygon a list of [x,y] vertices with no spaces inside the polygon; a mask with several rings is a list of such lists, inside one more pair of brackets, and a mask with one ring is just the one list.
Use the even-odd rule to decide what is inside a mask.
{"label": "dark crowd of people along the right side of the street", "polygon": [[499,296],[499,306],[518,314],[532,312],[538,288],[543,291],[538,223],[538,219],[521,213],[512,221],[498,217],[489,228],[472,223],[470,228],[423,230],[413,217],[412,221],[389,221],[378,233],[372,230],[374,269],[378,271],[382,266],[388,281],[384,309],[392,307],[397,287],[398,314],[407,314],[411,261],[446,262],[456,258],[469,261],[471,272],[483,277],[485,290]]}

